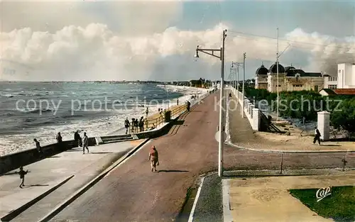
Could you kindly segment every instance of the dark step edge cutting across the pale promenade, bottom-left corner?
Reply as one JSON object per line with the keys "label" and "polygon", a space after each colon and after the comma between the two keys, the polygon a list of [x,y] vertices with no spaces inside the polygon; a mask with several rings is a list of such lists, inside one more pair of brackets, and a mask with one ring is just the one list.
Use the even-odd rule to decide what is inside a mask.
{"label": "dark step edge cutting across the pale promenade, bottom-left corner", "polygon": [[23,204],[18,209],[15,209],[15,210],[11,211],[10,213],[6,214],[2,218],[0,218],[0,221],[11,221],[13,218],[18,216],[18,214],[22,213],[23,211],[26,211],[26,209],[28,209],[31,206],[33,206],[33,204],[37,203],[38,201],[43,199],[48,194],[54,192],[55,189],[58,189],[60,186],[62,186],[62,184],[65,184],[66,182],[68,182],[70,179],[72,179],[72,177],[74,177],[74,175],[72,175],[70,177],[67,177],[67,179],[65,179],[62,182],[60,182],[59,184],[55,185],[51,189],[48,189],[48,191],[44,192],[43,194],[40,194],[39,196],[35,197],[35,199],[32,199],[31,201],[28,201],[26,204]]}

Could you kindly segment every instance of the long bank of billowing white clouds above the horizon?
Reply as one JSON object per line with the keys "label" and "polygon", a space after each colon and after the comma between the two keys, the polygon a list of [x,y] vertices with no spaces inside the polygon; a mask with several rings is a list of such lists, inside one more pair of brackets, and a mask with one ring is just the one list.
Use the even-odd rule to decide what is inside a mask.
{"label": "long bank of billowing white clouds above the horizon", "polygon": [[[195,73],[191,73],[190,78],[203,75],[193,60],[196,46],[219,48],[222,30],[229,27],[222,23],[202,31],[170,27],[160,33],[144,35],[119,34],[101,23],[65,26],[55,33],[22,28],[1,33],[1,53],[5,60],[33,67],[30,76],[19,73],[16,79],[185,79],[187,75],[182,75],[176,64],[183,65],[184,72],[191,67]],[[354,37],[332,38],[320,33],[305,33],[297,28],[282,39],[280,51],[290,44],[285,53],[292,53],[293,48],[307,52],[309,67],[315,71],[331,72],[337,62],[354,62]],[[247,53],[247,60],[273,61],[275,40],[234,35],[227,31],[226,62],[241,61],[243,52]],[[168,59],[174,56],[184,62]],[[205,74],[215,72],[219,65],[219,60],[209,55],[200,54],[200,60]],[[282,57],[280,62],[283,62]]]}

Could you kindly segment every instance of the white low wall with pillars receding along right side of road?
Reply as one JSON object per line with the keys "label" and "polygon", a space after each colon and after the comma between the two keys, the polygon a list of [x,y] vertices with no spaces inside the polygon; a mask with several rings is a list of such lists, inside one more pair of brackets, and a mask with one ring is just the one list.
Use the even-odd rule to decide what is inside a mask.
{"label": "white low wall with pillars receding along right side of road", "polygon": [[[226,89],[229,89],[232,91],[234,96],[238,98],[238,103],[240,106],[243,105],[243,94],[240,91],[237,91],[233,87],[226,87]],[[251,128],[253,128],[253,131],[260,131],[260,123],[261,123],[261,111],[255,107],[255,105],[252,103],[252,101],[249,101],[249,99],[244,96],[244,116],[248,118],[248,121],[251,125]]]}

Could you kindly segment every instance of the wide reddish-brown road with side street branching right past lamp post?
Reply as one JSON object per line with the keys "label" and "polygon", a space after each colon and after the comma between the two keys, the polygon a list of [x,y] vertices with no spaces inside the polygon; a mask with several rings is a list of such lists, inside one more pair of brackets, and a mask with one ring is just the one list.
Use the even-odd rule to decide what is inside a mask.
{"label": "wide reddish-brown road with side street branching right past lamp post", "polygon": [[[173,221],[198,174],[217,170],[214,134],[218,112],[214,111],[214,96],[218,94],[212,94],[204,104],[183,115],[180,125],[174,126],[168,135],[144,146],[52,221]],[[160,155],[162,171],[158,173],[151,172],[148,162],[151,145],[156,146]],[[334,166],[334,161],[340,161],[336,154],[323,157],[301,154],[285,156],[283,160],[288,167]],[[278,169],[281,156],[226,146],[224,160],[228,169]]]}

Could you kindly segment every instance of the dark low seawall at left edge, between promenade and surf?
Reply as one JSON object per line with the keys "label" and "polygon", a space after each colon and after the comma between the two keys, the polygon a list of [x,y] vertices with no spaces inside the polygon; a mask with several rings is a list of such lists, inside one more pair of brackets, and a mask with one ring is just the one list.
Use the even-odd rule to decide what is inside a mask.
{"label": "dark low seawall at left edge, between promenade and surf", "polygon": [[[95,138],[89,138],[89,146],[96,145]],[[77,143],[75,140],[63,141],[64,149],[61,149],[57,143],[44,145],[42,147],[43,154],[45,157],[50,157],[56,155],[64,150],[70,150],[72,148],[77,148]],[[21,166],[29,165],[33,162],[40,160],[38,151],[36,148],[30,150],[23,150],[20,152],[14,152],[9,155],[4,155],[0,157],[0,174],[4,174],[11,170],[16,170]]]}

